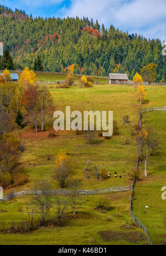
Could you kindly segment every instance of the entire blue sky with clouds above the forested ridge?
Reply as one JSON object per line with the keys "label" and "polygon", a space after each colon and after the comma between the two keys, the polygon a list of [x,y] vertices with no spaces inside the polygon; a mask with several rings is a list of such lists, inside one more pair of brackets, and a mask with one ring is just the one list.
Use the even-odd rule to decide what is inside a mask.
{"label": "entire blue sky with clouds above the forested ridge", "polygon": [[109,28],[166,42],[166,0],[0,0],[33,17],[88,17]]}

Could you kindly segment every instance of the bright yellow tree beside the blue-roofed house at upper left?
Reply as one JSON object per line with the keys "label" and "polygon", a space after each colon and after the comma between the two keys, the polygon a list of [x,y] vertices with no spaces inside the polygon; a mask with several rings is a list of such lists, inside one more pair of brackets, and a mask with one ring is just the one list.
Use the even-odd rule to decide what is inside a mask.
{"label": "bright yellow tree beside the blue-roofed house at upper left", "polygon": [[37,77],[34,71],[26,67],[20,76],[19,83],[24,84],[25,88],[27,88],[28,85],[35,85],[37,83]]}

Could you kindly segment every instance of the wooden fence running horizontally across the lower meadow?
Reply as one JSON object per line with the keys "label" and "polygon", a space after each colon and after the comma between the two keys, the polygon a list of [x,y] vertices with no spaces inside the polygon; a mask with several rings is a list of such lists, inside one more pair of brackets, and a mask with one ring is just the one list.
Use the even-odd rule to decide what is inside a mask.
{"label": "wooden fence running horizontally across the lower meadow", "polygon": [[[94,194],[106,194],[111,192],[123,192],[123,191],[130,191],[132,190],[132,186],[125,186],[125,187],[110,187],[110,188],[101,188],[99,190],[79,190],[76,193],[80,194],[80,196],[90,196]],[[63,195],[68,196],[72,192],[69,190],[48,190],[48,194],[51,196],[56,195]],[[12,199],[13,197],[20,197],[20,196],[30,196],[30,195],[38,195],[42,194],[42,191],[39,190],[23,190],[17,193],[9,194],[8,196],[3,197],[3,201],[7,201]]]}

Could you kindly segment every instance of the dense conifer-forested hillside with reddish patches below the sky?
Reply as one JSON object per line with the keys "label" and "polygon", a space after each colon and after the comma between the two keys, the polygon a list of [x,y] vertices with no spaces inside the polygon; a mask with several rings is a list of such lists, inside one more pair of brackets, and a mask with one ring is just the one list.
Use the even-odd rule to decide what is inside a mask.
{"label": "dense conifer-forested hillside with reddish patches below the sky", "polygon": [[147,40],[113,25],[106,29],[87,18],[33,19],[24,11],[2,6],[0,13],[0,42],[11,52],[16,68],[33,68],[39,53],[45,71],[63,72],[75,63],[76,74],[128,73],[132,79],[143,66],[156,63],[156,81],[166,80],[166,59],[159,39]]}

